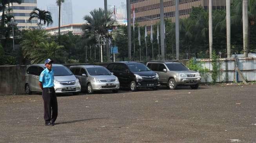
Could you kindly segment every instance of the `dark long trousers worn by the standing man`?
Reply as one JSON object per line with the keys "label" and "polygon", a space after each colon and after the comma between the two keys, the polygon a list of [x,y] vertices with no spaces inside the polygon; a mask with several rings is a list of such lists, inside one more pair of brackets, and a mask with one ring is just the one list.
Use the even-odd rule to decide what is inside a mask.
{"label": "dark long trousers worn by the standing man", "polygon": [[54,88],[44,88],[42,92],[44,100],[44,120],[45,123],[55,122],[58,116],[58,103]]}

